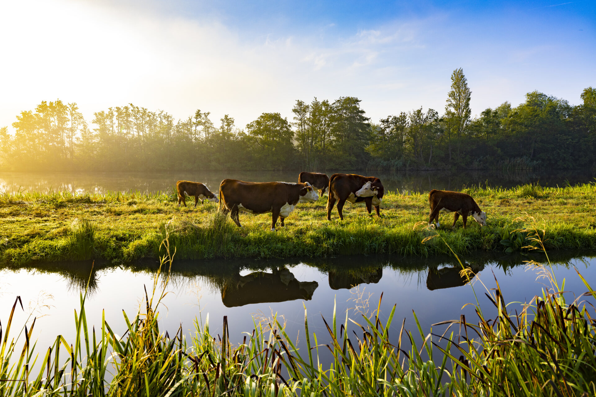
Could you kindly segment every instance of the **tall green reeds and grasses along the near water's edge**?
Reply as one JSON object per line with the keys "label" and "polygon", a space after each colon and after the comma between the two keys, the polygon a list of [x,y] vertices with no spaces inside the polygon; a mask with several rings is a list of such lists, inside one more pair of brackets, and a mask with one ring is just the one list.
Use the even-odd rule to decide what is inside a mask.
{"label": "tall green reeds and grasses along the near water's edge", "polygon": [[[167,274],[156,274],[153,294],[145,295],[136,315],[124,314],[123,337],[105,321],[88,329],[82,294],[75,340],[57,336],[48,348],[36,346],[30,339],[35,320],[21,329],[12,324],[13,312],[20,310],[17,298],[3,322],[0,395],[594,395],[596,312],[583,296],[567,302],[564,280],[559,285],[542,271],[552,288],[528,304],[507,305],[498,287],[486,290],[485,302],[496,308],[491,320],[477,304],[476,321],[462,316],[414,331],[402,323],[401,331],[390,335],[395,306],[382,316],[387,321],[378,308],[364,315],[346,312],[344,319],[334,311],[325,322],[327,332],[316,335],[309,332],[305,312],[303,348],[276,318],[254,324],[240,345],[229,342],[226,317],[222,335],[211,335],[209,324],[198,321],[190,338],[181,329],[173,336],[164,333],[159,310]],[[596,298],[584,283],[585,295]],[[479,283],[474,288],[483,289]],[[418,337],[424,341],[420,346],[414,342]],[[325,355],[329,365],[321,364]]]}

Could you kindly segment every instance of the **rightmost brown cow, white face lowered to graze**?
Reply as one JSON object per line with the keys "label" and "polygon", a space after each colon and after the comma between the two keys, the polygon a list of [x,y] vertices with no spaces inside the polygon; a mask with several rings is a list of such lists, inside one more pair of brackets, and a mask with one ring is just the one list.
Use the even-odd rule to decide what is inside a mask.
{"label": "rightmost brown cow, white face lowered to graze", "polygon": [[455,223],[460,215],[462,221],[464,221],[464,229],[470,215],[474,217],[475,221],[480,223],[480,226],[486,226],[486,212],[481,211],[476,201],[465,193],[433,189],[429,192],[429,204],[429,224],[433,223],[433,220],[436,220],[437,227],[439,227],[439,211],[444,211],[455,212],[453,225],[451,226],[452,229],[455,227]]}

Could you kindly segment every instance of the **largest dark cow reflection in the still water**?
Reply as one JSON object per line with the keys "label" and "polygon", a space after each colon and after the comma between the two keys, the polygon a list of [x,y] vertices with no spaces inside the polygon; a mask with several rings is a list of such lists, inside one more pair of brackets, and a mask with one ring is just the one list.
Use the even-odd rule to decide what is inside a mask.
{"label": "largest dark cow reflection in the still water", "polygon": [[226,307],[244,306],[264,302],[284,302],[304,299],[310,301],[318,283],[296,280],[286,268],[272,269],[273,273],[255,271],[235,277],[222,289],[222,302]]}

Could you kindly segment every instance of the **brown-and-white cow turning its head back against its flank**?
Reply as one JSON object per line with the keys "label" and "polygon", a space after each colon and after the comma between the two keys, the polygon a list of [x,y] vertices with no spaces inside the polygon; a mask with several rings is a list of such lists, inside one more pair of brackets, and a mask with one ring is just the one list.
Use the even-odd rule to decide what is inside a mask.
{"label": "brown-and-white cow turning its head back against its flank", "polygon": [[371,213],[371,205],[379,213],[381,198],[385,189],[381,180],[374,176],[362,176],[356,174],[333,174],[329,180],[329,193],[327,198],[327,220],[331,220],[331,210],[337,201],[337,212],[343,220],[343,205],[346,201],[355,204],[362,202],[367,205],[367,211]]}

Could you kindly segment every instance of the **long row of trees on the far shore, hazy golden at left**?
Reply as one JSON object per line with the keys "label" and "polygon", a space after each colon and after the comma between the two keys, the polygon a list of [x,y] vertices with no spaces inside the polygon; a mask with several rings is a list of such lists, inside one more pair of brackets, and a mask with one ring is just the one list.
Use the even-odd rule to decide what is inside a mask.
{"label": "long row of trees on the far shore, hazy golden at left", "polygon": [[596,89],[583,104],[534,91],[471,117],[471,91],[451,76],[445,112],[402,111],[371,123],[361,101],[296,101],[293,120],[263,113],[244,129],[197,110],[185,120],[129,104],[94,114],[75,103],[23,111],[0,129],[3,170],[401,170],[586,168],[596,164]]}

